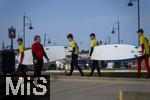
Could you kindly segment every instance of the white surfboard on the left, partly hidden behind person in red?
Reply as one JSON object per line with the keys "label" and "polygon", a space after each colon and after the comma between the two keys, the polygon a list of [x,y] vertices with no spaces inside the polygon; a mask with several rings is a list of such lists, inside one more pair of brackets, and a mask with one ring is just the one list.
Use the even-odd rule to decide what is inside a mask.
{"label": "white surfboard on the left, partly hidden behind person in red", "polygon": [[[57,61],[57,60],[61,60],[61,59],[65,59],[67,55],[70,55],[70,48],[69,47],[65,47],[65,46],[49,46],[49,47],[44,47],[44,50],[48,56],[48,58],[50,59],[50,62],[52,61]],[[20,55],[18,57],[18,62],[20,59]],[[47,63],[47,60],[44,59],[44,63]],[[24,52],[24,60],[23,63],[24,65],[33,65],[33,56],[32,56],[32,51],[31,49],[26,50]]]}

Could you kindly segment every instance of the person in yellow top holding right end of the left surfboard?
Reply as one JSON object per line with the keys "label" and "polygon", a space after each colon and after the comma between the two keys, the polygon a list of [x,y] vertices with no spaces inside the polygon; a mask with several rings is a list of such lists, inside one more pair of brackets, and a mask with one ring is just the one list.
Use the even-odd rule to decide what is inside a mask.
{"label": "person in yellow top holding right end of the left surfboard", "polygon": [[84,76],[81,68],[78,66],[78,52],[79,52],[78,44],[74,40],[72,34],[68,34],[67,38],[68,38],[68,41],[70,42],[70,46],[72,48],[72,53],[71,53],[71,69],[70,69],[69,76],[72,75],[74,67],[76,67],[79,70],[79,72],[81,73],[81,76]]}

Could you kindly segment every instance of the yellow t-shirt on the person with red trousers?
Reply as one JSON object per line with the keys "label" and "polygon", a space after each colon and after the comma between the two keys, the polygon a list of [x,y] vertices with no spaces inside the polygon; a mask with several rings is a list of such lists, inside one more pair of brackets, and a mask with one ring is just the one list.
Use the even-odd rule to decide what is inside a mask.
{"label": "yellow t-shirt on the person with red trousers", "polygon": [[149,55],[150,54],[149,40],[148,40],[148,38],[146,36],[144,36],[144,35],[140,36],[140,44],[141,45],[144,44],[144,48],[145,48],[144,54],[148,54]]}

